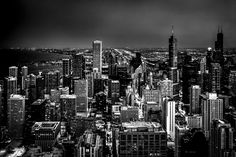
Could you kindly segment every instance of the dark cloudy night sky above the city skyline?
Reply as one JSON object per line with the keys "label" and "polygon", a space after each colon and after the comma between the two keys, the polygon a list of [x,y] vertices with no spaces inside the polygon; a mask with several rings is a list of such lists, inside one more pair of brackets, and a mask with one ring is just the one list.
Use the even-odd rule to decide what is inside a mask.
{"label": "dark cloudy night sky above the city skyline", "polygon": [[178,47],[214,45],[219,25],[225,47],[236,47],[236,0],[5,0],[1,47]]}

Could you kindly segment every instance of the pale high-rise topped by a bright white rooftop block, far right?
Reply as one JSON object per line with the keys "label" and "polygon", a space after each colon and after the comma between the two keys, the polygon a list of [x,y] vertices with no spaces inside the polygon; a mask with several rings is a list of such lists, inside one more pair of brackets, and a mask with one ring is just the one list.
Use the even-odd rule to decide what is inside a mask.
{"label": "pale high-rise topped by a bright white rooftop block, far right", "polygon": [[209,138],[212,120],[223,119],[223,100],[216,93],[201,95],[203,130]]}

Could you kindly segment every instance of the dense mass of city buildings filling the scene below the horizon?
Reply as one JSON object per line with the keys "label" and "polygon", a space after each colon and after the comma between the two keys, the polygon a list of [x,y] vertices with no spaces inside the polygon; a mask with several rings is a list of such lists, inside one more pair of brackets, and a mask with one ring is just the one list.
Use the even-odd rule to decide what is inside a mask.
{"label": "dense mass of city buildings filling the scene below the horizon", "polygon": [[172,30],[165,60],[96,40],[62,71],[9,67],[0,156],[235,157],[236,62],[222,30],[205,51],[178,51]]}

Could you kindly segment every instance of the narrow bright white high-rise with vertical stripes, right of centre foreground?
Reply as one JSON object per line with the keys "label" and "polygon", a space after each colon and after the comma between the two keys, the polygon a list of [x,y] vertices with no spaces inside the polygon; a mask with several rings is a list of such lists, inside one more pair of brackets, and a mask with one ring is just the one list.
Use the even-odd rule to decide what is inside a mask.
{"label": "narrow bright white high-rise with vertical stripes, right of centre foreground", "polygon": [[162,105],[162,125],[172,140],[175,139],[175,101],[164,98]]}

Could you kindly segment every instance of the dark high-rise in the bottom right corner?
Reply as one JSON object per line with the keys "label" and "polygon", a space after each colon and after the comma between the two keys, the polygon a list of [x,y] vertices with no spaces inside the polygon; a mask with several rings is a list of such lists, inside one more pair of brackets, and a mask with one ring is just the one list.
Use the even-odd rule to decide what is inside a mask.
{"label": "dark high-rise in the bottom right corner", "polygon": [[233,128],[222,120],[213,120],[210,134],[210,157],[235,156]]}

